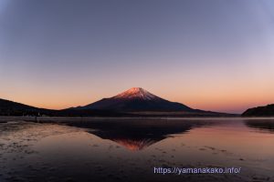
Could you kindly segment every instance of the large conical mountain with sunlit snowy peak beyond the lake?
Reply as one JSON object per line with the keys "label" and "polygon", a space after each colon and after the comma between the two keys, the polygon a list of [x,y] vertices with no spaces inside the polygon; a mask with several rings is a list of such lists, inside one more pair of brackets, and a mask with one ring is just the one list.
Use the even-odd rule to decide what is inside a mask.
{"label": "large conical mountain with sunlit snowy peak beyond the lake", "polygon": [[117,96],[103,98],[77,109],[103,109],[115,111],[192,111],[195,109],[181,103],[170,102],[140,88],[132,87]]}

